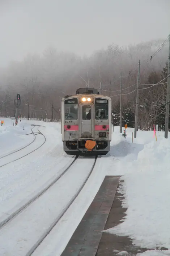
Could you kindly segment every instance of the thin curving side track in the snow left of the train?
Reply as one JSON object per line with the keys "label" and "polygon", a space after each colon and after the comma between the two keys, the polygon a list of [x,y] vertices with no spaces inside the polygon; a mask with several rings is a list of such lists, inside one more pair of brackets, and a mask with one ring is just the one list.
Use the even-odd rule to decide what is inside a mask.
{"label": "thin curving side track in the snow left of the train", "polygon": [[[35,126],[34,126],[34,127],[35,127]],[[34,127],[31,129],[32,133],[33,133]],[[7,163],[4,163],[4,164],[0,165],[0,168],[3,167],[3,166],[6,166],[6,165],[9,164],[9,163],[13,163],[13,162],[15,162],[15,161],[17,161],[17,160],[20,160],[20,159],[23,158],[23,157],[26,157],[27,155],[33,153],[34,151],[38,150],[40,147],[42,147],[42,146],[44,145],[44,143],[46,142],[46,137],[41,133],[41,131],[39,130],[39,127],[40,127],[40,126],[38,126],[38,128],[37,128],[38,133],[33,133],[33,134],[34,134],[34,139],[33,139],[32,142],[30,142],[30,143],[27,144],[26,146],[22,147],[21,149],[12,151],[12,152],[10,152],[10,153],[8,153],[8,154],[6,154],[6,155],[0,157],[0,159],[5,158],[5,157],[8,157],[9,155],[15,154],[15,153],[17,153],[17,152],[19,152],[19,151],[22,151],[22,150],[25,149],[26,147],[30,146],[31,144],[33,144],[33,143],[36,141],[36,135],[38,135],[38,134],[41,134],[41,135],[44,137],[43,143],[42,143],[39,147],[37,147],[36,149],[30,151],[29,153],[23,155],[22,157],[16,158],[16,159],[14,159],[14,160],[12,160],[12,161],[10,161],[10,162],[7,162]],[[32,134],[32,133],[31,133],[31,134]]]}

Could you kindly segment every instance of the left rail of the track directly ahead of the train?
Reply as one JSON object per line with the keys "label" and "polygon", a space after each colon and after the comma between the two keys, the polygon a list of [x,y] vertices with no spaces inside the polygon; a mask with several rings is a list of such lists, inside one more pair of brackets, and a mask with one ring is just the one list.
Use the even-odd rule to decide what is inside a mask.
{"label": "left rail of the track directly ahead of the train", "polygon": [[21,211],[23,211],[27,206],[29,206],[31,203],[33,203],[36,199],[38,199],[41,195],[44,194],[49,188],[51,188],[64,174],[68,171],[68,169],[73,165],[73,163],[77,160],[78,157],[76,157],[71,164],[56,178],[54,179],[47,187],[45,187],[42,191],[40,191],[37,195],[35,195],[33,198],[31,198],[28,202],[26,202],[23,206],[18,208],[15,212],[13,212],[8,218],[0,222],[0,228],[2,228],[5,224],[7,224],[10,220],[12,220],[15,216],[17,216]]}

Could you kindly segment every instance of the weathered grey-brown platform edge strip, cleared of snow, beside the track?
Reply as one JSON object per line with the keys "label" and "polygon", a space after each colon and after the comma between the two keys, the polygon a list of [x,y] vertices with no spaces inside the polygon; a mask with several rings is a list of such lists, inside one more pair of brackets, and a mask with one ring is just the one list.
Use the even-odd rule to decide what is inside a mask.
{"label": "weathered grey-brown platform edge strip, cleared of snow, beside the track", "polygon": [[61,256],[95,256],[118,187],[119,176],[105,176],[93,202]]}

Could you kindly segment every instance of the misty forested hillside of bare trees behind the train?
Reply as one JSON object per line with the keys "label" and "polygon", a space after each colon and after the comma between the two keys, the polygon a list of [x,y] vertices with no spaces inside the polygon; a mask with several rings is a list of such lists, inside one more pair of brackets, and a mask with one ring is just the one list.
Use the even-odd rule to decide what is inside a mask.
{"label": "misty forested hillside of bare trees behind the train", "polygon": [[[158,54],[150,57],[160,48],[162,40],[142,42],[126,48],[111,44],[107,49],[94,52],[89,57],[74,53],[58,52],[54,47],[44,50],[41,56],[27,55],[22,62],[11,62],[0,69],[0,116],[14,116],[14,98],[21,94],[22,103],[18,114],[30,118],[51,119],[53,104],[54,119],[60,118],[60,100],[65,95],[75,94],[76,89],[90,86],[112,98],[115,124],[120,112],[120,72],[122,72],[123,120],[134,125],[136,103],[137,63],[141,61],[140,86],[156,84],[167,76],[168,45]],[[148,60],[146,62],[146,60]],[[139,91],[139,126],[148,130],[153,123],[163,129],[165,106],[149,107],[166,102],[166,84]],[[117,92],[114,92],[117,91]],[[129,94],[128,94],[129,93]],[[29,104],[29,106],[28,106]],[[133,107],[131,107],[133,106]],[[131,107],[130,109],[128,109]],[[128,110],[126,110],[128,109]]]}

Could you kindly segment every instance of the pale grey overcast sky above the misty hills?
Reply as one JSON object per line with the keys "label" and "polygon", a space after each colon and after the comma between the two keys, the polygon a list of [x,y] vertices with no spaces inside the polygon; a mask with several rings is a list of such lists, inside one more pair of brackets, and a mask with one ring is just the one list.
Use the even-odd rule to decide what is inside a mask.
{"label": "pale grey overcast sky above the misty hills", "polygon": [[170,0],[0,0],[0,66],[48,46],[91,54],[170,32]]}

